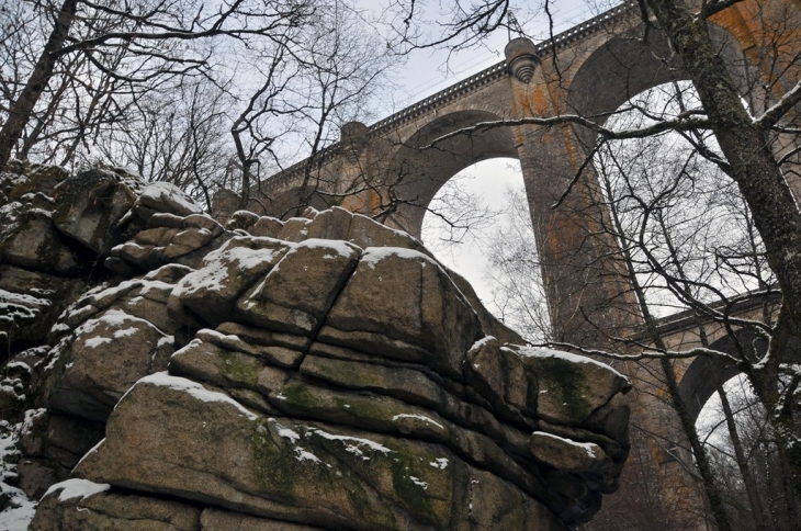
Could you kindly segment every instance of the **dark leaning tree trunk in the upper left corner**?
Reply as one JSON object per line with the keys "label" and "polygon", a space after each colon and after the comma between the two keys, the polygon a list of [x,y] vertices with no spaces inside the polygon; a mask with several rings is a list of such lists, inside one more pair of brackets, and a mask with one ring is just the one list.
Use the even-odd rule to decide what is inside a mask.
{"label": "dark leaning tree trunk in the upper left corner", "polygon": [[25,83],[19,98],[9,109],[9,118],[0,129],[0,169],[5,168],[9,162],[11,150],[22,137],[25,125],[31,120],[31,114],[42,92],[44,92],[53,77],[53,69],[59,55],[58,52],[64,47],[67,39],[77,7],[78,0],[65,0],[58,11],[56,25],[53,27],[53,32],[36,61],[31,77],[27,79],[27,83]]}

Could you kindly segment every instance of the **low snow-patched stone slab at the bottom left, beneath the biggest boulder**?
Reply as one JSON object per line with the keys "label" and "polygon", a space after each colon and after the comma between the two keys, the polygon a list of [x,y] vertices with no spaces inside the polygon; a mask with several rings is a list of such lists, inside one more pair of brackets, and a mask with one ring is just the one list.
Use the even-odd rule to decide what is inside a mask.
{"label": "low snow-patched stone slab at the bottom left, beneath the biggest boulder", "polygon": [[[108,485],[68,479],[54,485],[31,531],[198,531],[201,509],[177,501],[108,492]],[[230,528],[236,529],[236,528]],[[221,530],[222,531],[222,530]]]}

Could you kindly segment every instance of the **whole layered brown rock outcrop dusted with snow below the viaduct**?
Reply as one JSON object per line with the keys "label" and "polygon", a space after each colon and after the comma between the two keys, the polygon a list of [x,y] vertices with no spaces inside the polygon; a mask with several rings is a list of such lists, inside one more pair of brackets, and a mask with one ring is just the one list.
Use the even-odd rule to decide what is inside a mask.
{"label": "whole layered brown rock outcrop dusted with snow below the viaduct", "polygon": [[557,531],[617,488],[628,381],[521,346],[415,238],[15,171],[0,522],[24,493],[32,530]]}

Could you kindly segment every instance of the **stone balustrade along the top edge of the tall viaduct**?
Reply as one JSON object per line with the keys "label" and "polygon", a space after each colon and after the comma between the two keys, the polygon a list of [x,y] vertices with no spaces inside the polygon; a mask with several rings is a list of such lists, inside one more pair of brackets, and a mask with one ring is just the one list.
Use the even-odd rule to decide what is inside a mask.
{"label": "stone balustrade along the top edge of the tall viaduct", "polygon": [[[537,45],[537,54],[542,59],[544,57],[548,57],[551,55],[554,50],[559,52],[560,49],[575,43],[576,41],[579,41],[582,38],[585,38],[598,31],[600,31],[602,27],[610,25],[614,22],[617,22],[621,16],[628,14],[632,9],[638,8],[636,1],[627,1],[618,5],[617,8],[612,8],[609,11],[605,11],[603,13],[594,16],[585,22],[582,22],[578,25],[575,25],[571,27],[569,30],[566,30],[557,35],[554,35],[552,39],[543,41]],[[429,95],[428,98],[420,100],[417,103],[414,103],[406,109],[403,109],[394,114],[391,114],[390,116],[380,120],[379,122],[375,122],[373,125],[371,125],[368,129],[368,136],[371,138],[379,137],[386,133],[388,129],[392,129],[394,127],[397,127],[398,125],[403,125],[405,123],[408,123],[413,120],[416,120],[417,117],[421,116],[425,113],[428,113],[438,106],[445,104],[453,100],[454,98],[461,97],[466,94],[467,92],[472,92],[473,90],[476,90],[492,81],[495,81],[497,79],[501,79],[508,76],[508,71],[506,68],[506,61],[497,63],[489,68],[485,68],[484,70],[480,71],[478,74],[474,74],[473,76],[469,77],[467,79],[464,79],[462,81],[459,81],[458,83],[451,84],[450,87],[440,90],[439,92]],[[339,143],[332,144],[328,146],[325,149],[321,149],[318,151],[315,157],[314,161],[312,161],[315,166],[321,166],[325,163],[331,156],[338,154],[339,151]],[[306,169],[306,166],[308,165],[308,159],[302,160],[300,162],[296,162],[289,168],[285,168],[279,173],[275,173],[274,176],[263,180],[260,183],[260,192],[270,192],[275,189],[280,189],[284,187],[286,183],[292,181],[293,179],[300,177],[303,174],[303,172]]]}

